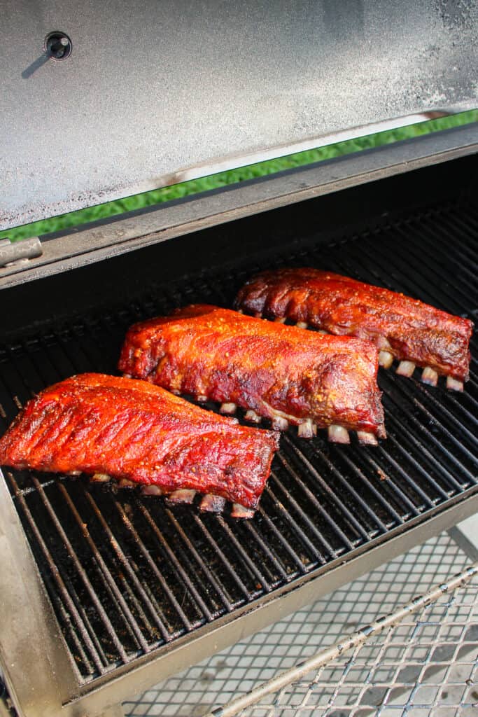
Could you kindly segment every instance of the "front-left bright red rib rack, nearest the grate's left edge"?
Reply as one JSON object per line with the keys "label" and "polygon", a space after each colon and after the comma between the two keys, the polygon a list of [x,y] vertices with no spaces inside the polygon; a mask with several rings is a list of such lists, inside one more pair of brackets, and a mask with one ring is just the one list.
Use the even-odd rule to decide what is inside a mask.
{"label": "front-left bright red rib rack, nearest the grate's left edge", "polygon": [[80,374],[29,401],[0,440],[0,465],[107,474],[156,493],[186,489],[255,508],[277,448],[276,433],[145,381]]}

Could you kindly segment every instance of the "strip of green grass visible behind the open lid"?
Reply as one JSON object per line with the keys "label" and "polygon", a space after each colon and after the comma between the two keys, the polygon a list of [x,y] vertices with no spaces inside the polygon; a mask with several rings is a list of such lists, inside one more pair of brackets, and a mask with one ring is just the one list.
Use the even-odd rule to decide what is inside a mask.
{"label": "strip of green grass visible behind the open lid", "polygon": [[211,174],[201,179],[191,179],[181,184],[173,184],[172,186],[163,187],[163,189],[153,189],[143,194],[135,194],[125,199],[116,201],[108,201],[105,204],[80,209],[77,212],[69,212],[61,214],[52,219],[44,219],[41,222],[33,222],[25,224],[23,227],[15,229],[6,229],[0,232],[0,239],[9,237],[13,241],[33,237],[38,234],[47,234],[48,232],[57,232],[60,229],[69,227],[77,227],[79,224],[86,222],[94,222],[96,219],[104,219],[122,212],[130,212],[133,209],[140,209],[144,206],[152,204],[161,204],[171,199],[179,199],[183,196],[196,194],[200,191],[208,189],[217,189],[221,186],[235,184],[246,179],[254,179],[255,177],[264,176],[266,174],[274,174],[275,172],[292,167],[303,166],[312,162],[323,161],[334,157],[340,157],[352,152],[361,151],[372,147],[378,147],[384,144],[390,144],[403,139],[416,137],[419,135],[434,132],[436,130],[449,129],[458,125],[467,124],[469,122],[478,121],[478,110],[469,110],[450,117],[429,120],[415,125],[408,125],[396,130],[388,130],[386,132],[378,132],[358,139],[338,142],[326,147],[307,150],[305,152],[297,152],[284,157],[272,159],[265,162],[257,162],[249,164],[238,169]]}

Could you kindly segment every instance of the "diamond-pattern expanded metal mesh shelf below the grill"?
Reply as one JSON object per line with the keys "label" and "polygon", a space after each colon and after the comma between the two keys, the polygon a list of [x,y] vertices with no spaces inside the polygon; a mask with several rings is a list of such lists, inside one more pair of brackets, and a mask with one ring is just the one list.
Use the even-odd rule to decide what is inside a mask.
{"label": "diamond-pattern expanded metal mesh shelf below the grill", "polygon": [[[443,533],[310,607],[297,610],[266,630],[164,680],[135,701],[125,703],[125,713],[127,717],[209,714],[213,708],[259,687],[264,680],[327,650],[361,625],[396,612],[404,603],[447,581],[469,563],[464,551]],[[478,679],[477,620],[478,592],[474,579],[454,596],[411,615],[398,627],[369,637],[355,652],[330,660],[315,673],[269,693],[257,706],[239,711],[238,715],[403,717],[408,715],[408,708],[425,699],[417,689],[419,685],[433,688],[436,684],[442,685],[437,699],[443,699],[448,708],[448,686],[455,693],[461,686],[464,699],[473,698],[467,687],[473,687]],[[431,693],[430,689],[426,694]],[[393,714],[386,708],[393,709]],[[411,711],[410,717],[431,715]],[[442,717],[455,717],[455,713],[445,711]]]}

